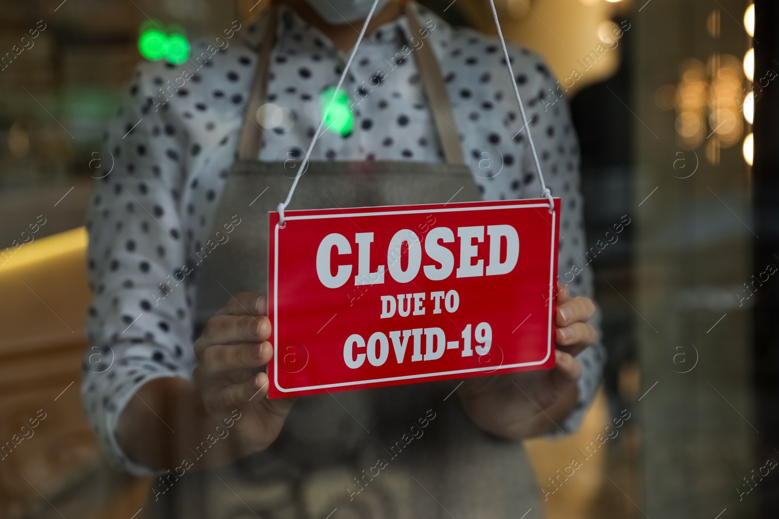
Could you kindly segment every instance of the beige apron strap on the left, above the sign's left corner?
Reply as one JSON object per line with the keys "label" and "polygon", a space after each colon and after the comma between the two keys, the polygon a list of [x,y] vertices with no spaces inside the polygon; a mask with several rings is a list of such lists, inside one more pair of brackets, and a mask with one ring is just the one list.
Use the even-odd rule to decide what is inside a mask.
{"label": "beige apron strap on the left, above the sign's left corner", "polygon": [[257,125],[259,123],[257,110],[263,106],[268,88],[268,68],[270,68],[273,43],[276,40],[277,12],[276,5],[272,5],[258,23],[258,30],[263,36],[257,49],[257,68],[249,93],[249,104],[246,107],[247,113],[245,115],[249,121],[244,121],[241,126],[241,134],[238,137],[239,160],[257,160],[260,145],[263,142],[263,130]]}

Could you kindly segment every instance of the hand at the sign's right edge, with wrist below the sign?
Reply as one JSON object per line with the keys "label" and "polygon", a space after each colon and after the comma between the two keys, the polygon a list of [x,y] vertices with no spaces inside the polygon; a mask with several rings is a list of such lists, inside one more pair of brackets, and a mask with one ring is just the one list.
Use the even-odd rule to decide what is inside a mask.
{"label": "hand at the sign's right edge, with wrist below the sign", "polygon": [[558,286],[555,367],[464,380],[460,401],[481,430],[499,437],[522,439],[559,429],[579,397],[576,381],[581,365],[576,356],[595,342],[590,324],[595,305]]}

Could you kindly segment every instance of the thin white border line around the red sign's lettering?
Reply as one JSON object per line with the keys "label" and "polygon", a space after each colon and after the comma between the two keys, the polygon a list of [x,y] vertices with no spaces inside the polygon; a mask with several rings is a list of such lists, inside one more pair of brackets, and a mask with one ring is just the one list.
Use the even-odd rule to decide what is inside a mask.
{"label": "thin white border line around the red sign's lettering", "polygon": [[[492,206],[492,207],[457,207],[457,208],[450,208],[450,209],[409,209],[406,211],[369,211],[369,212],[350,212],[350,213],[341,213],[341,214],[333,214],[333,215],[307,215],[307,216],[285,216],[284,219],[286,220],[312,220],[312,219],[330,219],[330,218],[351,218],[352,216],[379,216],[379,215],[413,215],[413,214],[419,214],[419,213],[427,213],[427,212],[453,212],[453,211],[492,211],[495,209],[516,209],[516,208],[538,208],[543,207],[545,209],[548,209],[549,204],[548,202],[545,202],[543,204],[517,204],[517,205],[498,205],[498,206]],[[549,251],[549,301],[552,301],[552,297],[554,297],[553,289],[554,289],[554,279],[553,276],[555,275],[555,221],[557,218],[557,213],[552,212],[552,239],[550,240],[550,251]],[[273,333],[274,335],[277,335],[278,330],[278,315],[279,315],[279,301],[278,301],[278,286],[279,286],[279,224],[276,224],[275,229],[273,230],[273,233],[275,235],[274,237],[274,247],[273,247],[273,308],[275,309],[273,312]],[[547,328],[547,349],[546,349],[546,356],[544,359],[538,360],[536,362],[529,362],[529,363],[516,363],[516,364],[506,364],[496,367],[494,371],[497,370],[508,370],[515,367],[523,367],[523,366],[538,366],[540,364],[545,363],[549,356],[552,355],[552,304],[549,304],[549,317],[548,317],[548,328]],[[344,386],[356,386],[359,384],[375,384],[377,382],[392,382],[395,380],[414,380],[417,378],[431,378],[431,377],[440,377],[442,375],[456,375],[460,373],[474,373],[477,371],[484,371],[485,368],[471,368],[468,370],[453,370],[453,371],[439,371],[438,373],[421,373],[417,375],[406,375],[403,377],[386,377],[386,378],[373,378],[370,380],[354,380],[352,382],[342,382],[339,384],[320,384],[317,386],[305,386],[305,387],[291,387],[288,389],[285,389],[284,387],[281,387],[279,385],[279,366],[278,366],[278,341],[274,341],[276,344],[273,344],[273,371],[275,372],[275,376],[273,377],[273,385],[276,386],[276,388],[281,391],[282,393],[291,393],[294,391],[308,391],[311,389],[327,389],[328,387],[344,387]]]}

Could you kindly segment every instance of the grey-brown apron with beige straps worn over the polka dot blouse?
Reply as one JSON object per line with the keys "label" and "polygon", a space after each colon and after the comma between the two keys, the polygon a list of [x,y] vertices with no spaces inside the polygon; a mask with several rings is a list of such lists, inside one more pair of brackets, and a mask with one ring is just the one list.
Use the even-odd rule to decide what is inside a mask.
{"label": "grey-brown apron with beige straps worn over the polka dot blouse", "polygon": [[[418,20],[409,9],[411,32]],[[248,114],[265,99],[275,14],[266,16]],[[287,209],[481,200],[465,166],[438,62],[414,51],[446,163],[312,162]],[[198,332],[231,293],[266,292],[268,212],[297,170],[261,163],[259,128],[246,121],[238,160],[214,226],[241,224],[196,271]],[[287,167],[285,167],[285,164]],[[262,193],[262,196],[259,196]],[[518,442],[478,430],[456,394],[459,380],[312,395],[298,399],[278,439],[237,463],[192,472],[157,503],[157,517],[277,519],[541,517],[538,484]],[[425,424],[423,428],[421,424]],[[218,478],[217,478],[218,476]]]}

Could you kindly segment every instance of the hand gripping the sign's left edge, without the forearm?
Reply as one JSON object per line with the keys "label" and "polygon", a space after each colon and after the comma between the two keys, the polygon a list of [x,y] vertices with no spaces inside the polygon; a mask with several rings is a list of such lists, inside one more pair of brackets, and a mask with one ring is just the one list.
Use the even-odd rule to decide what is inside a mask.
{"label": "hand gripping the sign's left edge, without the forearm", "polygon": [[241,454],[261,451],[279,435],[296,398],[269,400],[263,369],[273,357],[266,298],[238,293],[211,317],[195,342],[198,364],[192,375],[206,412],[218,422],[241,413],[233,432]]}

